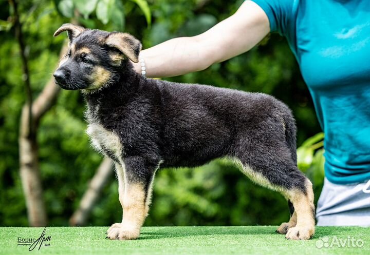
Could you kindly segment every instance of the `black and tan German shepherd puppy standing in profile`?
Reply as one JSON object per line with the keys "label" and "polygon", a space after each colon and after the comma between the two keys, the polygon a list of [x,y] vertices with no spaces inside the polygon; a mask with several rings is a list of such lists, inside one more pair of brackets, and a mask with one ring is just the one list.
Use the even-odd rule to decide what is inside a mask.
{"label": "black and tan German shepherd puppy standing in profile", "polygon": [[159,167],[199,166],[228,157],[255,183],[279,191],[291,218],[278,230],[287,239],[315,231],[312,184],[297,167],[295,122],[274,97],[206,85],[146,79],[141,44],[127,33],[64,24],[69,51],[54,72],[63,89],[81,90],[87,134],[116,164],[121,223],[109,239],[137,239],[151,203]]}

